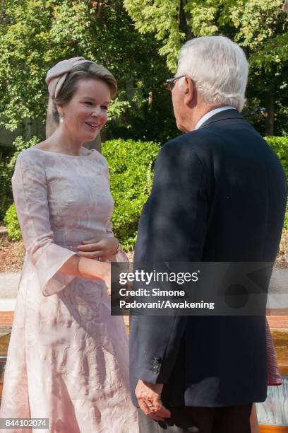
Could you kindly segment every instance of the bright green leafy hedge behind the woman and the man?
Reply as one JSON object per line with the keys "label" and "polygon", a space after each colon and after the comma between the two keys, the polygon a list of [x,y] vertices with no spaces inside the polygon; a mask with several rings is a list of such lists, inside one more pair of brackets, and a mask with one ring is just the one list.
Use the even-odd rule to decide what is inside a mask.
{"label": "bright green leafy hedge behind the woman and the man", "polygon": [[[280,158],[288,180],[288,137],[265,139]],[[37,141],[37,137],[33,137],[29,142],[25,142],[22,137],[16,139],[16,153],[12,157],[10,155],[10,163],[7,164],[10,170],[6,174],[9,185],[18,152],[33,146]],[[121,245],[126,250],[133,250],[140,213],[152,187],[153,166],[160,151],[160,144],[114,139],[104,142],[102,151],[109,164],[110,185],[115,200],[113,230]],[[4,223],[11,240],[20,240],[15,204],[8,208]],[[288,230],[288,213],[284,220],[284,229]]]}

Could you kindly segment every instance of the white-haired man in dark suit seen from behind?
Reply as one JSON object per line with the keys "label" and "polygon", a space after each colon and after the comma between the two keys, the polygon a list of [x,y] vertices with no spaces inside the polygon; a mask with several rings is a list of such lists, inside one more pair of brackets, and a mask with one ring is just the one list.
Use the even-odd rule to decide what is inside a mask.
{"label": "white-haired man in dark suit seen from behind", "polygon": [[[244,52],[227,37],[182,48],[169,85],[186,134],[157,158],[135,262],[275,260],[287,186],[240,114],[247,77]],[[251,404],[267,391],[264,316],[132,316],[130,340],[141,433],[251,431]]]}

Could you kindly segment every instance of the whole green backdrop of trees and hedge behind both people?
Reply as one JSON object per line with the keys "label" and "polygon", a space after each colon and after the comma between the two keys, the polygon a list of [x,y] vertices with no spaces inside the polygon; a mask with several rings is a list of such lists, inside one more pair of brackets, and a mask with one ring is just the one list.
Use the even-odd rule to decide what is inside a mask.
{"label": "whole green backdrop of trees and hedge behind both people", "polygon": [[[11,237],[15,233],[18,238],[15,209],[6,214],[13,203],[10,181],[16,156],[44,138],[45,75],[67,57],[83,55],[100,62],[119,83],[102,142],[116,202],[114,230],[127,250],[135,243],[157,151],[179,134],[165,80],[175,73],[179,49],[191,37],[227,35],[244,49],[250,68],[244,117],[268,136],[287,174],[288,20],[282,4],[1,0],[0,127],[18,134],[13,146],[0,146],[0,221],[5,218]],[[35,120],[40,125],[36,132]]]}

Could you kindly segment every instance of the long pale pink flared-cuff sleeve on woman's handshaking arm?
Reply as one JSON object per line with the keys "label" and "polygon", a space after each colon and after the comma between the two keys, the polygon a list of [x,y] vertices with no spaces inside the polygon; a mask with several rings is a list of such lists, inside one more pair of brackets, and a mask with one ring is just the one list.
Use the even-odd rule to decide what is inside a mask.
{"label": "long pale pink flared-cuff sleeve on woman's handshaking arm", "polygon": [[29,152],[22,152],[16,162],[12,187],[23,241],[37,271],[42,293],[44,296],[58,293],[74,277],[57,271],[77,253],[54,243],[47,182],[40,159],[33,158]]}

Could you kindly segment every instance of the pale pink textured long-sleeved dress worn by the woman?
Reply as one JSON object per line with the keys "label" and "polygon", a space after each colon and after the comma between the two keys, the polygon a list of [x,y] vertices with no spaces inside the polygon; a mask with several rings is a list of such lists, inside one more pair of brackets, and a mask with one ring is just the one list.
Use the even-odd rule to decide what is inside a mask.
{"label": "pale pink textured long-sleeved dress worn by the woman", "polygon": [[27,149],[12,183],[27,254],[0,417],[49,418],[49,430],[15,433],[138,432],[123,317],[104,283],[57,272],[81,241],[113,236],[105,158]]}

